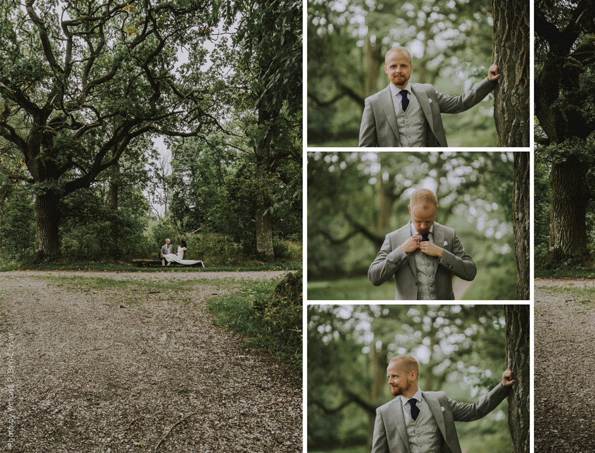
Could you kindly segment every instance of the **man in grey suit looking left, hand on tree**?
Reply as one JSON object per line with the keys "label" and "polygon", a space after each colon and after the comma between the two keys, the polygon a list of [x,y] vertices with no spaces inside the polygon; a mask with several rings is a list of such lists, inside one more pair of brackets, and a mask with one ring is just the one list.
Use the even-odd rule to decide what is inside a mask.
{"label": "man in grey suit looking left, hand on tree", "polygon": [[444,392],[422,392],[419,363],[411,355],[393,357],[386,373],[396,398],[376,410],[372,453],[461,453],[455,421],[485,417],[515,383],[512,371],[506,370],[490,393],[465,404]]}

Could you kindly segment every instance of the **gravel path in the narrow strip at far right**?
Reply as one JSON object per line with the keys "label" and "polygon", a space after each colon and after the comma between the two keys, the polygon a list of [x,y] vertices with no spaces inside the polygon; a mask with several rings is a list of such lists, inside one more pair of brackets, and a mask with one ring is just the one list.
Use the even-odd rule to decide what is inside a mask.
{"label": "gravel path in the narrow strip at far right", "polygon": [[[593,280],[535,280],[535,453],[595,452]],[[593,289],[578,297],[559,288]]]}

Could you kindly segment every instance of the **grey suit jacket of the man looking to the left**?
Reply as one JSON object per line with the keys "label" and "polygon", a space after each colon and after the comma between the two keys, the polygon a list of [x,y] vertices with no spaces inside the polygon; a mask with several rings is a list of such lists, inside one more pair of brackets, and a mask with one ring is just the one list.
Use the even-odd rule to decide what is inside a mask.
{"label": "grey suit jacket of the man looking to the left", "polygon": [[[509,388],[498,384],[473,404],[456,402],[444,392],[421,392],[428,403],[442,435],[444,453],[461,453],[455,421],[473,421],[485,417],[508,395]],[[372,453],[409,453],[409,437],[399,396],[376,410]]]}

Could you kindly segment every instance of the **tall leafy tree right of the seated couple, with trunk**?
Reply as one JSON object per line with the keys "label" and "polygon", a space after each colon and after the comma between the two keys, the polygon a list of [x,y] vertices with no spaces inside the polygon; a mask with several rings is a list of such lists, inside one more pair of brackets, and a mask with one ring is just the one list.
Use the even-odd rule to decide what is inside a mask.
{"label": "tall leafy tree right of the seated couple, with trunk", "polygon": [[[256,157],[256,251],[274,258],[271,211],[273,176],[281,148],[295,148],[291,129],[302,113],[302,2],[237,2],[245,9],[234,45],[250,71],[249,95],[255,99],[255,127],[249,146]],[[300,140],[299,140],[300,141]],[[301,143],[300,143],[301,145]],[[275,148],[271,151],[271,147]],[[301,155],[301,152],[300,152]]]}

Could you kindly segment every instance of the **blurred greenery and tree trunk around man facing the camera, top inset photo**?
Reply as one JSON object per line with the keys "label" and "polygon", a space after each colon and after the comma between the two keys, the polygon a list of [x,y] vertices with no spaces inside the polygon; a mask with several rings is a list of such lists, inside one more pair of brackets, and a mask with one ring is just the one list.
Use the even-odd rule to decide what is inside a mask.
{"label": "blurred greenery and tree trunk around man facing the camera, top inset photo", "polygon": [[518,0],[308,1],[308,146],[358,146],[364,99],[405,46],[411,83],[467,92],[497,64],[493,93],[443,114],[449,146],[529,146],[529,4]]}

